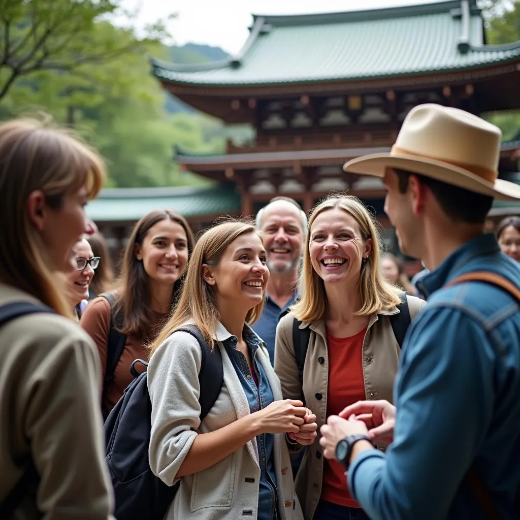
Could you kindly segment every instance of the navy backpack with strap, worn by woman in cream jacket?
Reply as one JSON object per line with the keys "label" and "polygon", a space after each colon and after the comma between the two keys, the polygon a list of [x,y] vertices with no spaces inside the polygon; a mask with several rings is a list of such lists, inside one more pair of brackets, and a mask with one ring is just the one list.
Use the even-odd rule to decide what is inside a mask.
{"label": "navy backpack with strap, worn by woman in cream jacket", "polygon": [[[177,330],[194,336],[202,350],[199,372],[202,421],[215,404],[224,382],[222,355],[218,348],[210,350],[197,327]],[[131,369],[134,375],[137,362],[148,365],[136,359]],[[145,372],[126,387],[103,427],[107,446],[105,460],[114,488],[114,516],[118,520],[162,520],[180,486],[180,483],[167,486],[150,469],[151,409]]]}

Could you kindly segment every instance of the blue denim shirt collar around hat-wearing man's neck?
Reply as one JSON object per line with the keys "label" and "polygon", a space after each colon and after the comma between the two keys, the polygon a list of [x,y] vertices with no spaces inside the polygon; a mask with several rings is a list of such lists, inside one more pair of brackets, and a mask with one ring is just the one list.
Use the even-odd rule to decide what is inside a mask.
{"label": "blue denim shirt collar around hat-wearing man's neck", "polygon": [[494,233],[486,233],[461,245],[458,249],[447,256],[439,266],[424,275],[417,282],[417,288],[425,296],[438,291],[450,280],[456,278],[462,267],[474,257],[486,254],[498,253],[500,247]]}

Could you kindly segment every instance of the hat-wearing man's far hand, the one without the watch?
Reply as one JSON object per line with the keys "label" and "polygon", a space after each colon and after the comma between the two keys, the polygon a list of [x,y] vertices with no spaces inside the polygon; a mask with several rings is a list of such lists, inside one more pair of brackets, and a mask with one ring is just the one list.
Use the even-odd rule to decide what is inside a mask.
{"label": "hat-wearing man's far hand, the one without the watch", "polygon": [[388,401],[358,401],[340,413],[343,418],[351,415],[367,425],[373,443],[390,444],[394,440],[395,406]]}

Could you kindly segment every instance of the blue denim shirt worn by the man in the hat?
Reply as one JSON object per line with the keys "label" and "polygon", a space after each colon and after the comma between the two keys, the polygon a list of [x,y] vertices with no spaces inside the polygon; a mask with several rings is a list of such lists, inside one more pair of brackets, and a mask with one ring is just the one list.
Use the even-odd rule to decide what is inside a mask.
{"label": "blue denim shirt worn by the man in the hat", "polygon": [[476,270],[520,287],[520,268],[493,235],[464,244],[419,284],[428,305],[408,330],[394,386],[394,442],[359,454],[348,485],[372,520],[483,520],[470,466],[503,520],[520,483],[520,311]]}

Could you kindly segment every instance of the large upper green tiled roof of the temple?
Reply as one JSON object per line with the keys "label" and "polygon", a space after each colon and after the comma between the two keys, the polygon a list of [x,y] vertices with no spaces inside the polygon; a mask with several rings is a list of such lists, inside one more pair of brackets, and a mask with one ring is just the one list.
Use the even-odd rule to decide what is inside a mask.
{"label": "large upper green tiled roof of the temple", "polygon": [[322,15],[258,16],[237,56],[181,65],[152,59],[161,81],[241,86],[457,71],[520,57],[520,42],[485,45],[475,0]]}

